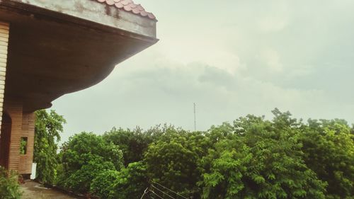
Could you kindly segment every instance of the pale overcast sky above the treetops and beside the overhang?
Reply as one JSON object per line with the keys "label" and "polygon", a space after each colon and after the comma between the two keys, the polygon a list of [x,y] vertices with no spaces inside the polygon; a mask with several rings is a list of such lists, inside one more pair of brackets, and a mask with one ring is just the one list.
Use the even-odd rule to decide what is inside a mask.
{"label": "pale overcast sky above the treetops and beside the overhang", "polygon": [[160,41],[53,102],[63,140],[112,127],[207,130],[247,114],[354,123],[353,0],[135,0]]}

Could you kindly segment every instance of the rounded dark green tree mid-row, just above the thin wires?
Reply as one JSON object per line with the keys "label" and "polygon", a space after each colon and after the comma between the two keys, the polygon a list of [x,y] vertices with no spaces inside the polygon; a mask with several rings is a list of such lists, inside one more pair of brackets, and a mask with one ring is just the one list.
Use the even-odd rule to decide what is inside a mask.
{"label": "rounded dark green tree mid-row, just above the thin wires", "polygon": [[161,140],[150,144],[145,154],[149,178],[183,195],[198,195],[198,161],[209,144],[201,132],[170,129]]}

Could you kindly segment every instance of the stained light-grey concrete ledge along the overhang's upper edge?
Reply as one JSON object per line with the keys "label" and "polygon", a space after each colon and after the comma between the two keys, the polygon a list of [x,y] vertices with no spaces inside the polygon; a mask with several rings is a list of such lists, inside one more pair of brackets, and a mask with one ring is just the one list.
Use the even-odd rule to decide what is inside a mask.
{"label": "stained light-grey concrete ledge along the overhang's upper edge", "polygon": [[156,21],[92,0],[0,0],[0,4],[23,4],[55,11],[130,33],[156,38]]}

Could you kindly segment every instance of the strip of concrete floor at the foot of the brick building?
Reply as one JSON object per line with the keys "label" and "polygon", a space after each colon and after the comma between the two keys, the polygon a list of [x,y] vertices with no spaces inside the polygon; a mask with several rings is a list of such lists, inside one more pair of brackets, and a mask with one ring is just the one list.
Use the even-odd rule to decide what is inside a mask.
{"label": "strip of concrete floor at the foot of the brick building", "polygon": [[23,191],[23,199],[76,199],[51,188],[45,188],[42,184],[33,181],[25,181],[21,185],[21,191]]}

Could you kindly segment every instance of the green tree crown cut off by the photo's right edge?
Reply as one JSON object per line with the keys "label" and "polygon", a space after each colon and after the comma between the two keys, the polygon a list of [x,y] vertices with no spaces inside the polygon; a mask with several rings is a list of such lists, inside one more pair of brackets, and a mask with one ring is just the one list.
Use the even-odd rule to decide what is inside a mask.
{"label": "green tree crown cut off by the photo's right edge", "polygon": [[354,198],[354,134],[343,120],[302,125],[304,161],[329,183],[327,198]]}

